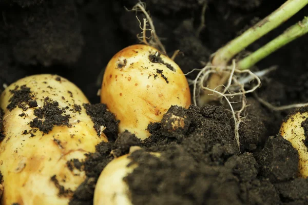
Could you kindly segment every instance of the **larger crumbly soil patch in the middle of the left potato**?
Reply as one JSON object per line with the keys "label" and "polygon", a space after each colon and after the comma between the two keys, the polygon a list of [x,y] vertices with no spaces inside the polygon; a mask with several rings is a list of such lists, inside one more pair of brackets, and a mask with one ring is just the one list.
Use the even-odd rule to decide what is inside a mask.
{"label": "larger crumbly soil patch in the middle of the left potato", "polygon": [[44,99],[44,106],[34,110],[37,116],[30,121],[31,128],[38,128],[41,132],[48,134],[54,126],[70,127],[70,115],[64,114],[65,108],[60,108],[57,101],[51,100],[49,97]]}

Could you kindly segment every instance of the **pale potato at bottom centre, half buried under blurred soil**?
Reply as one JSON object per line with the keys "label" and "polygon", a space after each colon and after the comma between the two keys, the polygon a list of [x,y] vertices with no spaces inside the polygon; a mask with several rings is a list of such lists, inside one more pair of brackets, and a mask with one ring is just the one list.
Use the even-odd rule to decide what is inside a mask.
{"label": "pale potato at bottom centre, half buried under blurred soil", "polygon": [[[151,152],[157,157],[160,153]],[[131,162],[129,154],[113,159],[102,171],[94,191],[93,205],[131,205],[129,188],[123,178],[138,167]]]}

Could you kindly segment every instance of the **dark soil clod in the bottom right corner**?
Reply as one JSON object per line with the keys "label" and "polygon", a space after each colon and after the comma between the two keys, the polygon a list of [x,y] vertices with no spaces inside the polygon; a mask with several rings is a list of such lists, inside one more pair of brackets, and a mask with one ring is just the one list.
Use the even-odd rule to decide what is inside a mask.
{"label": "dark soil clod in the bottom right corner", "polygon": [[275,188],[282,202],[308,203],[308,179],[296,178],[292,181],[276,183]]}

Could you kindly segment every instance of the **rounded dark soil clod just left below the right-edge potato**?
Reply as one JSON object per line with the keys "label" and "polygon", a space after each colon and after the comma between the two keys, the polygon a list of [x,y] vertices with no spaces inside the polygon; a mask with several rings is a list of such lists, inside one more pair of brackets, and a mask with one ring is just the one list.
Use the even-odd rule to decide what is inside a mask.
{"label": "rounded dark soil clod just left below the right-edge potato", "polygon": [[280,135],[269,137],[257,158],[260,175],[272,182],[290,180],[297,175],[297,150]]}

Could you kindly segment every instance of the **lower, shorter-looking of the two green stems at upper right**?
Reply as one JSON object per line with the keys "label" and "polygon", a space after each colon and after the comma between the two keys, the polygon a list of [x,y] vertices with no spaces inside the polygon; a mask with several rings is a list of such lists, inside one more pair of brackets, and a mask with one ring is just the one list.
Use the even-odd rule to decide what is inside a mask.
{"label": "lower, shorter-looking of the two green stems at upper right", "polygon": [[266,57],[267,55],[275,52],[282,46],[292,42],[292,40],[308,33],[308,18],[305,17],[301,22],[291,26],[285,30],[280,36],[267,43],[265,46],[261,47],[251,55],[248,55],[244,59],[240,60],[238,63],[238,68],[240,70],[245,70],[251,68],[258,61]]}

